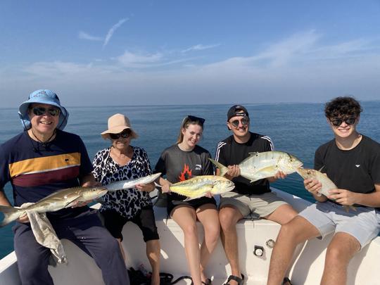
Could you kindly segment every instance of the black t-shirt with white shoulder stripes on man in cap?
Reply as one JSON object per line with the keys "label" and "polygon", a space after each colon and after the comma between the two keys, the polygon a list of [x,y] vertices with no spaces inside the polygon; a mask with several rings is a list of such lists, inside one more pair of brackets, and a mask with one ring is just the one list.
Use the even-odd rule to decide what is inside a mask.
{"label": "black t-shirt with white shoulder stripes on man in cap", "polygon": [[[237,143],[234,136],[220,141],[217,144],[215,160],[225,166],[238,165],[248,158],[249,153],[261,153],[264,151],[274,151],[270,137],[251,132],[251,137],[245,144]],[[270,192],[270,184],[267,179],[260,179],[251,183],[248,179],[239,176],[232,179],[232,181],[235,184],[233,191],[239,194],[264,194]]]}

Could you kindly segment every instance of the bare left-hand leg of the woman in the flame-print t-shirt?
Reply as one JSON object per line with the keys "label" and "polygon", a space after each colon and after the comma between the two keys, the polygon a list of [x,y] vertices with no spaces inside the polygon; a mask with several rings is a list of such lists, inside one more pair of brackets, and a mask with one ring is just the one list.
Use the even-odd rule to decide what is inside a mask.
{"label": "bare left-hand leg of the woman in the flame-print t-shirt", "polygon": [[201,285],[201,268],[199,266],[201,254],[198,242],[198,231],[196,229],[196,212],[194,208],[180,205],[172,210],[172,219],[175,220],[182,231],[184,231],[186,259],[189,264],[194,285]]}

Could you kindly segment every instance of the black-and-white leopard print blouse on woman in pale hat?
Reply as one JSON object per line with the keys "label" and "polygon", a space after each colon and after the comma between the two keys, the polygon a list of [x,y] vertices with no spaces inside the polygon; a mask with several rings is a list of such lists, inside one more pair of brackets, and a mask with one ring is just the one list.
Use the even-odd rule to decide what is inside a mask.
{"label": "black-and-white leopard print blouse on woman in pale hat", "polygon": [[[121,180],[135,179],[150,175],[151,165],[148,155],[143,148],[132,146],[133,156],[127,165],[120,166],[110,157],[110,147],[98,151],[95,155],[94,177],[102,185]],[[100,211],[116,210],[127,219],[132,219],[137,212],[146,206],[152,205],[148,192],[136,188],[108,192],[103,196]]]}

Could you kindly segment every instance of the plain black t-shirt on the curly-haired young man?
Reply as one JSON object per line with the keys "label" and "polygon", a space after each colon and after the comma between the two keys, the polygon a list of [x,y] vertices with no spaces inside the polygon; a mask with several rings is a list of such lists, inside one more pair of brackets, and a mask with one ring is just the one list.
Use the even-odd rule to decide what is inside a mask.
{"label": "plain black t-shirt on the curly-haired young man", "polygon": [[371,193],[380,184],[380,144],[362,135],[355,148],[342,151],[333,139],[315,152],[314,168],[322,168],[339,189]]}

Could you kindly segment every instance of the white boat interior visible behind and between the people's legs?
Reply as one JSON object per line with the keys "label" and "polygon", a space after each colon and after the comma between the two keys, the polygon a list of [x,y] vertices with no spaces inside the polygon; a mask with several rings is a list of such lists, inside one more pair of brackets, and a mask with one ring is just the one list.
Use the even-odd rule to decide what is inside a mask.
{"label": "white boat interior visible behind and between the people's legs", "polygon": [[[308,202],[279,191],[294,208],[302,210]],[[184,254],[184,236],[182,229],[171,219],[166,220],[166,209],[156,208],[156,222],[161,243],[161,272],[168,272],[175,278],[189,275]],[[198,224],[200,240],[203,238],[203,228]],[[239,237],[239,258],[241,270],[246,276],[246,284],[266,284],[267,271],[270,263],[272,248],[267,241],[276,240],[279,224],[267,220],[242,220],[237,224]],[[127,255],[127,266],[137,269],[139,265],[150,268],[145,253],[145,243],[139,228],[127,223],[123,229],[125,239],[123,247]],[[297,248],[293,266],[289,277],[293,284],[319,284],[324,266],[324,255],[331,236],[320,241],[312,239]],[[94,260],[80,251],[77,246],[63,240],[65,251],[68,254],[68,265],[49,267],[56,285],[101,285],[103,284],[101,272]],[[264,249],[262,256],[254,254],[255,246]],[[377,285],[380,284],[380,271],[376,270],[377,260],[380,257],[380,238],[377,237],[369,246],[353,258],[348,268],[348,285]],[[213,279],[214,285],[223,284],[230,274],[229,265],[224,255],[222,244],[219,241],[208,268],[208,277]],[[11,253],[0,260],[0,285],[20,284],[18,278],[15,254]],[[189,281],[179,281],[177,284],[190,284]]]}

